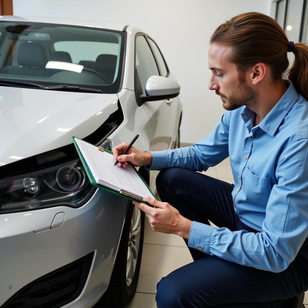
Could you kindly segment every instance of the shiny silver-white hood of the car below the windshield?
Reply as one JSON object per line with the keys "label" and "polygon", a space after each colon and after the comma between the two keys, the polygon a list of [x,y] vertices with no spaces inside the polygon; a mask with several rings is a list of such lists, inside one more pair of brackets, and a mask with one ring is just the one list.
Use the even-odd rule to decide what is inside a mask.
{"label": "shiny silver-white hood of the car below the windshield", "polygon": [[0,89],[0,167],[84,138],[118,109],[116,94]]}

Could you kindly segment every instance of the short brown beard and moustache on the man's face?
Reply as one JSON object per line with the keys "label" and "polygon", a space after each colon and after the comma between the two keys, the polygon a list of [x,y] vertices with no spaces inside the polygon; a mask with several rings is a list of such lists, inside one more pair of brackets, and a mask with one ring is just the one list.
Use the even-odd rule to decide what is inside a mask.
{"label": "short brown beard and moustache on the man's face", "polygon": [[256,93],[251,87],[247,85],[246,82],[242,82],[241,80],[239,86],[233,92],[231,92],[228,98],[218,90],[215,90],[215,93],[228,99],[229,103],[224,102],[223,104],[223,107],[226,110],[235,110],[244,105],[251,107],[257,103]]}

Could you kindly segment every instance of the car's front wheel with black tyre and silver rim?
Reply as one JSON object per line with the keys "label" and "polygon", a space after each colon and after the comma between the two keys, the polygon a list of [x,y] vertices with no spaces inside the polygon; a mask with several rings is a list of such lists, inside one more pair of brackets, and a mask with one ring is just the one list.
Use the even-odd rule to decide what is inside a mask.
{"label": "car's front wheel with black tyre and silver rim", "polygon": [[144,237],[144,212],[128,205],[115,265],[101,302],[108,306],[127,305],[133,298],[139,278]]}

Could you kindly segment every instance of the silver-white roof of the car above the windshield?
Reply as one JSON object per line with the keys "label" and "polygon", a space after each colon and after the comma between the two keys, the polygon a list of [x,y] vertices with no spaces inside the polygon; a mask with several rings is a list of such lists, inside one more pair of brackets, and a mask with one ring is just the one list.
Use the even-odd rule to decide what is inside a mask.
{"label": "silver-white roof of the car above the windshield", "polygon": [[109,30],[123,31],[126,25],[106,23],[100,20],[80,19],[80,18],[63,18],[63,17],[42,17],[42,16],[0,16],[1,20],[6,21],[31,21],[31,22],[47,22],[71,26],[86,26]]}

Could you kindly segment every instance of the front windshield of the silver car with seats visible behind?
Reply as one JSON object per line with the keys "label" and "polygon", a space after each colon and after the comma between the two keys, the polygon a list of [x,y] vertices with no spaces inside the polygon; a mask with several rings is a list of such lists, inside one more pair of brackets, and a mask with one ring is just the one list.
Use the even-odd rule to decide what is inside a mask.
{"label": "front windshield of the silver car with seats visible behind", "polygon": [[124,35],[94,27],[1,21],[0,79],[116,93]]}

